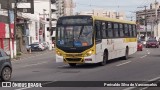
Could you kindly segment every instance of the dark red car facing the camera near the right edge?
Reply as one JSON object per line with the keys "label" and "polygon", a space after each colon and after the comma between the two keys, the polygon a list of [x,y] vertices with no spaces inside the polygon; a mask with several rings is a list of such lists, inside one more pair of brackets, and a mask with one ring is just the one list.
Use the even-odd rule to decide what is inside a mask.
{"label": "dark red car facing the camera near the right edge", "polygon": [[146,42],[146,48],[155,47],[159,48],[159,42],[156,39],[149,39]]}

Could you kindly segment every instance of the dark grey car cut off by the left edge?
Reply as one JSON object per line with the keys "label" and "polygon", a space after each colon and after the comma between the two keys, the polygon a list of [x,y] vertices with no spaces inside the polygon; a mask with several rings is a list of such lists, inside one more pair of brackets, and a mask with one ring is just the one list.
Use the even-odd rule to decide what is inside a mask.
{"label": "dark grey car cut off by the left edge", "polygon": [[9,81],[12,75],[10,56],[0,49],[0,78],[2,81]]}

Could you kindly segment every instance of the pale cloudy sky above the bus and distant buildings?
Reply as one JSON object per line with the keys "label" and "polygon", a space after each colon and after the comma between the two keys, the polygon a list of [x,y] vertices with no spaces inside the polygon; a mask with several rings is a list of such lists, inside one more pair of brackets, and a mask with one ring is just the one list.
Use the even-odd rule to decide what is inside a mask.
{"label": "pale cloudy sky above the bus and distant buildings", "polygon": [[[90,11],[96,8],[101,8],[105,10],[112,11],[123,11],[125,12],[127,17],[134,16],[135,11],[143,10],[143,7],[147,5],[149,8],[149,4],[154,2],[155,0],[73,0],[76,4],[74,8],[74,12],[80,11]],[[160,0],[157,0],[160,2]]]}

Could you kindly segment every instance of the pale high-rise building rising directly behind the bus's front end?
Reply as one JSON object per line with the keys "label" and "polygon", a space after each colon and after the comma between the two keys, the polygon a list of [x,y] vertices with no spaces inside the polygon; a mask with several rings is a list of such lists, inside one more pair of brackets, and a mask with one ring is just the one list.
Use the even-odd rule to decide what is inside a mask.
{"label": "pale high-rise building rising directly behind the bus's front end", "polygon": [[73,0],[56,0],[57,17],[73,15]]}

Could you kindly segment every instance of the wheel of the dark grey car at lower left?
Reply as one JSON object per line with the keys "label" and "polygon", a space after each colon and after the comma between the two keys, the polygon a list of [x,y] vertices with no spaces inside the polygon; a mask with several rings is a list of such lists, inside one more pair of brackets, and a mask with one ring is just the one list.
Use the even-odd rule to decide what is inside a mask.
{"label": "wheel of the dark grey car at lower left", "polygon": [[12,70],[9,67],[4,67],[1,73],[2,81],[9,81],[11,79]]}

